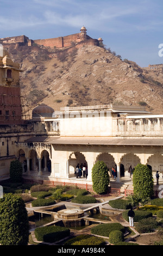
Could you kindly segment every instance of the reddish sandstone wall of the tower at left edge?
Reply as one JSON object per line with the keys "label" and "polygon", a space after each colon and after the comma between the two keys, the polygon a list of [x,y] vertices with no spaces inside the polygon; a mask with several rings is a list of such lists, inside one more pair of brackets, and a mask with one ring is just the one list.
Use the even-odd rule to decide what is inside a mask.
{"label": "reddish sandstone wall of the tower at left edge", "polygon": [[[9,111],[9,117],[5,117]],[[15,115],[13,115],[13,111]],[[0,87],[0,125],[22,124],[20,88]]]}

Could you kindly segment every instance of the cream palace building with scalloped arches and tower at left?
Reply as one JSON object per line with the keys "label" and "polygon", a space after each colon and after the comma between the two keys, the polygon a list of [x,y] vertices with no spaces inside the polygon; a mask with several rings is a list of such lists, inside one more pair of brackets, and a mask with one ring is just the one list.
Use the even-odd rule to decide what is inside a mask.
{"label": "cream palace building with scalloped arches and tower at left", "polygon": [[[40,104],[32,119],[22,119],[19,65],[7,51],[0,57],[0,179],[9,178],[12,160],[23,166],[23,178],[71,184],[92,184],[92,167],[104,161],[117,170],[116,182],[128,168],[147,164],[163,173],[163,114],[143,107],[97,105],[55,111]],[[86,164],[87,179],[74,175]]]}

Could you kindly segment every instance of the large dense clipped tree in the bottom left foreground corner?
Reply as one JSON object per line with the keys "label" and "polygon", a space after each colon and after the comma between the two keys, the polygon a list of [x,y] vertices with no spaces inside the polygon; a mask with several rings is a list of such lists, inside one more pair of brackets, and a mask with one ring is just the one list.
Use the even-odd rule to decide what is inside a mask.
{"label": "large dense clipped tree in the bottom left foreground corner", "polygon": [[11,193],[0,199],[1,245],[28,245],[29,221],[23,199]]}

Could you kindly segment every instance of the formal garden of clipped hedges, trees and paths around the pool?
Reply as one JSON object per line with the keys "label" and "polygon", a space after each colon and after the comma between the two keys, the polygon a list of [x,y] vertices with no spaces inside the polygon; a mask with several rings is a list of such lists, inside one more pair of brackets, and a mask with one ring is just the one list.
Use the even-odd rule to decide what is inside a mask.
{"label": "formal garden of clipped hedges, trees and paths around the pool", "polygon": [[[92,181],[93,192],[70,186],[23,184],[21,165],[11,162],[10,180],[3,184],[0,199],[1,245],[163,245],[163,198],[153,197],[152,173],[147,166],[135,167],[132,196],[107,196],[109,175],[104,162],[93,167]],[[35,209],[66,202],[82,208],[99,204],[102,198],[106,201],[104,207],[118,212],[111,216],[112,221],[87,225],[82,233],[71,227],[46,224],[34,228],[36,240],[33,239],[27,205]],[[129,227],[130,206],[135,212],[134,228]]]}

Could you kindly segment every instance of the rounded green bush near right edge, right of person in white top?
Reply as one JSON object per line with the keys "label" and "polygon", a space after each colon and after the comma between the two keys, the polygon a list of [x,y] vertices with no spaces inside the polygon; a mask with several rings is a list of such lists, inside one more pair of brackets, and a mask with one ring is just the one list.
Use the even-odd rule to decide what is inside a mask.
{"label": "rounded green bush near right edge, right of person in white top", "polygon": [[152,217],[140,220],[139,223],[136,224],[136,230],[139,233],[151,233],[157,227],[158,227],[158,222]]}

